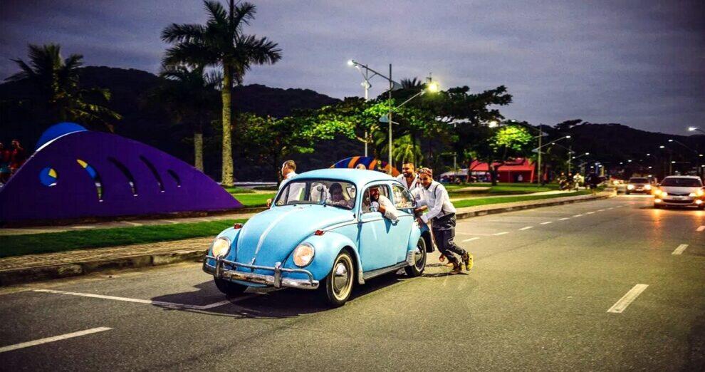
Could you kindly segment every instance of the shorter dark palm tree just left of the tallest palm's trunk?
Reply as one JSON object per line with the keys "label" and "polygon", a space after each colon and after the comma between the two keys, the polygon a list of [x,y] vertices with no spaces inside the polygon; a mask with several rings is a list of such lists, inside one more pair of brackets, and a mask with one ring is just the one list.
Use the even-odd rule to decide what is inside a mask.
{"label": "shorter dark palm tree just left of the tallest palm's trunk", "polygon": [[157,91],[157,95],[161,102],[169,105],[177,122],[192,128],[194,167],[203,172],[203,128],[209,122],[214,94],[220,87],[222,76],[215,72],[204,74],[203,66],[162,66],[160,76],[169,82]]}

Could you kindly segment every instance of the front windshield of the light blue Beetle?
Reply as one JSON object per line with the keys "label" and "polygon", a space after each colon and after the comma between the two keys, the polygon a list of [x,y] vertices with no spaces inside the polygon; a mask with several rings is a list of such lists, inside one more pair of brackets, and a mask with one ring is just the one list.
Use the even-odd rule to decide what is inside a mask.
{"label": "front windshield of the light blue Beetle", "polygon": [[279,193],[277,206],[293,204],[325,204],[352,210],[357,190],[350,182],[338,180],[291,181]]}

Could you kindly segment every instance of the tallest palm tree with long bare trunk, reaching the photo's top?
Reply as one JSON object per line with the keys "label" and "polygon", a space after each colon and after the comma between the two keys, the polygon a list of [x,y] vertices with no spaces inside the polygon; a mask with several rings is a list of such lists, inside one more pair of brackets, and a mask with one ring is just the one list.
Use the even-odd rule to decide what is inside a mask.
{"label": "tallest palm tree with long bare trunk, reaching the photo's top", "polygon": [[277,43],[266,37],[258,38],[243,33],[243,27],[254,19],[256,7],[243,2],[229,1],[226,10],[217,1],[204,1],[208,21],[200,24],[172,24],[162,31],[162,40],[174,43],[167,49],[164,64],[216,66],[223,70],[223,169],[221,183],[231,186],[233,179],[232,155],[232,86],[241,84],[246,71],[253,64],[273,64],[281,59]]}

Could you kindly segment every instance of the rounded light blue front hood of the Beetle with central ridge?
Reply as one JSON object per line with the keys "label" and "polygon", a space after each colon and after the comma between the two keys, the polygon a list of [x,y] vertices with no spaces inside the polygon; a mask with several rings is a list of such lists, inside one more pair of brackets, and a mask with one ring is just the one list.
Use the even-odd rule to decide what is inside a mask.
{"label": "rounded light blue front hood of the Beetle with central ridge", "polygon": [[323,205],[286,205],[255,215],[238,236],[235,260],[271,267],[318,229],[355,219],[352,210]]}

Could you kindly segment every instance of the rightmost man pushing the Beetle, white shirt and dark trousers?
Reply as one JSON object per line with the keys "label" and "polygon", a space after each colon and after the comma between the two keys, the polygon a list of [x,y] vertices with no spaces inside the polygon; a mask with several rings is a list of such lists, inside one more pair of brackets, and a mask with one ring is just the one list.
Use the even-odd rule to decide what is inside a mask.
{"label": "rightmost man pushing the Beetle, white shirt and dark trousers", "polygon": [[418,217],[419,224],[428,223],[431,221],[431,229],[433,232],[436,245],[448,261],[453,264],[452,273],[461,272],[461,264],[455,257],[458,254],[465,265],[465,269],[469,271],[473,265],[472,254],[458,247],[453,239],[455,237],[455,207],[450,202],[446,188],[439,182],[433,180],[433,170],[429,168],[419,169],[419,182],[421,187],[419,192],[419,206],[415,212],[420,213],[428,210],[425,215]]}

